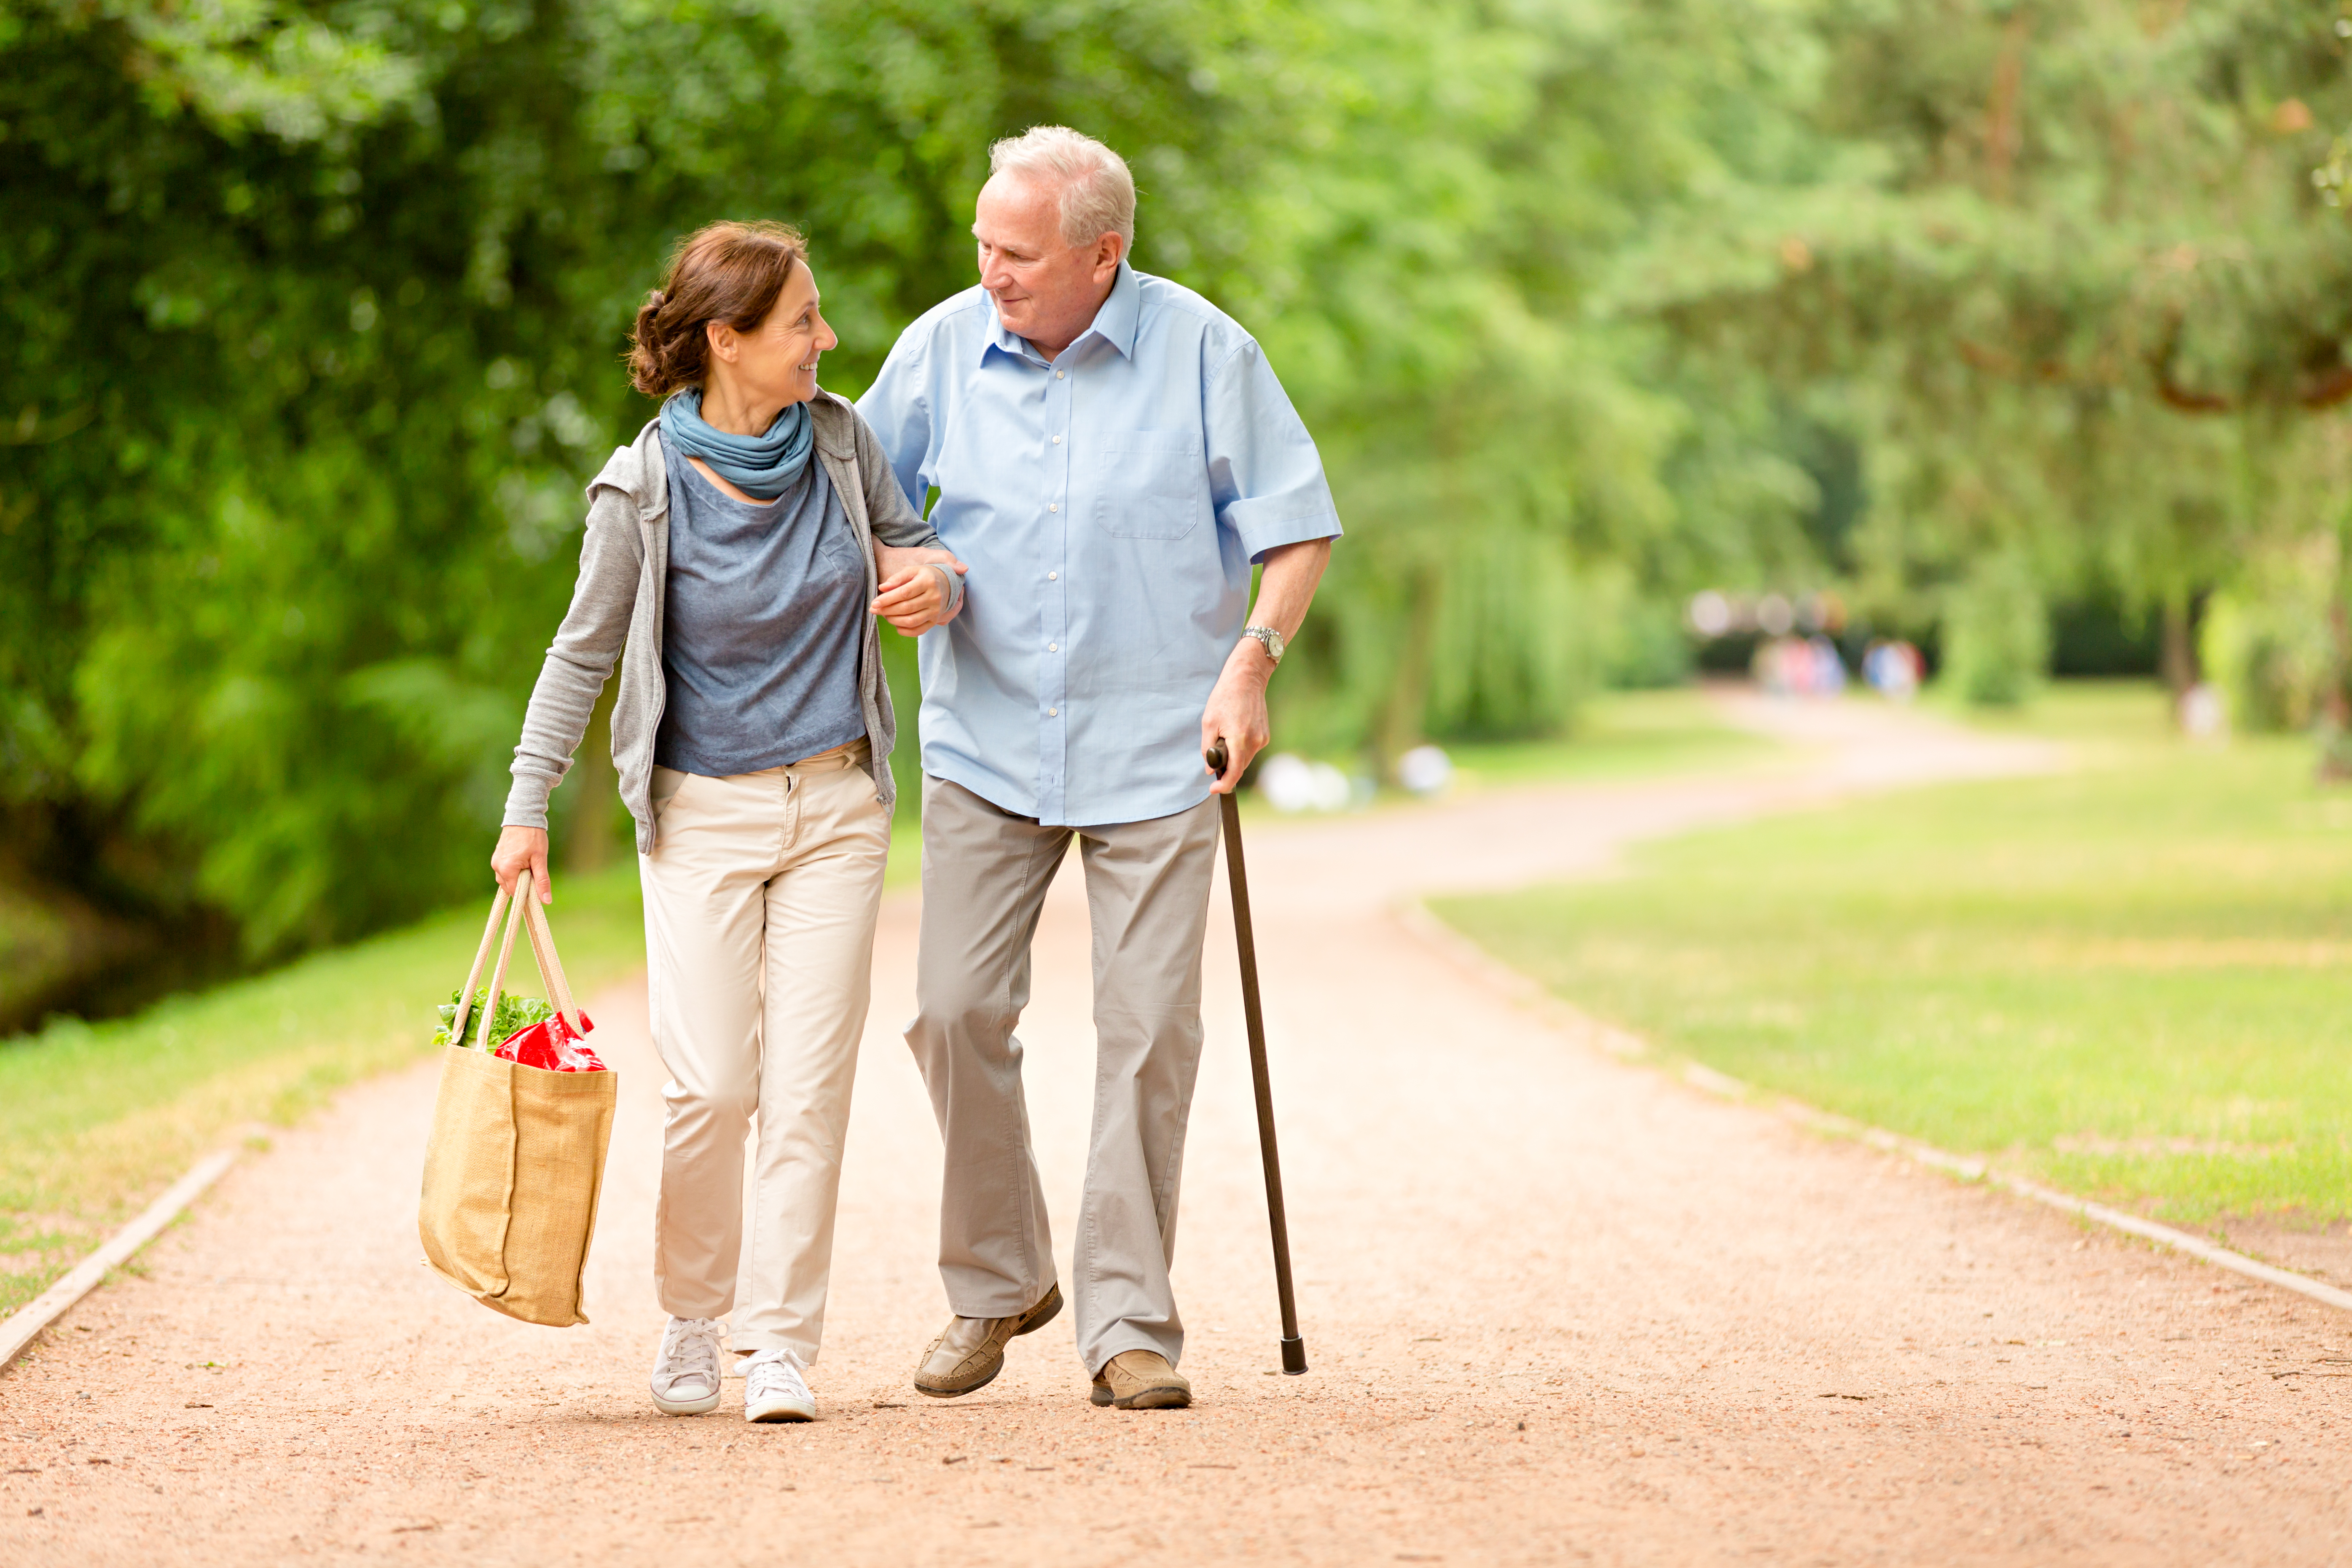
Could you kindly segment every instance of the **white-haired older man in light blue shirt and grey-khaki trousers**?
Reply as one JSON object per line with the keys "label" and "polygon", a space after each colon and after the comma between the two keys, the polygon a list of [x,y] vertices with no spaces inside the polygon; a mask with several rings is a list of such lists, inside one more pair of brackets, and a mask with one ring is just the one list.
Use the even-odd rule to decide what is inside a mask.
{"label": "white-haired older man in light blue shirt and grey-khaki trousers", "polygon": [[[922,639],[922,947],[906,1039],[948,1145],[955,1319],[915,1387],[967,1394],[1061,1312],[1014,1023],[1070,839],[1094,917],[1096,1088],[1073,1255],[1094,1403],[1190,1403],[1169,1291],[1200,1067],[1216,804],[1268,741],[1265,682],[1338,512],[1256,341],[1127,263],[1136,186],[1063,127],[1000,141],[981,284],[891,348],[858,411],[969,564]],[[1249,569],[1263,564],[1249,607]],[[1249,614],[1244,614],[1249,611]],[[1225,771],[1202,752],[1223,738]]]}

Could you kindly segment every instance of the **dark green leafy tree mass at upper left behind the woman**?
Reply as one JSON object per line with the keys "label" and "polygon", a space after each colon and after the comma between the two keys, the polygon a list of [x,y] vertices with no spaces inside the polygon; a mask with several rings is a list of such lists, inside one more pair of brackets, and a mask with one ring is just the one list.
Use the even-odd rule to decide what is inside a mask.
{"label": "dark green leafy tree mass at upper left behind the woman", "polygon": [[1127,146],[1214,275],[1263,129],[1216,85],[1275,96],[1202,5],[200,12],[0,28],[0,806],[252,954],[477,882],[675,235],[809,228],[854,390],[967,282],[993,136]]}

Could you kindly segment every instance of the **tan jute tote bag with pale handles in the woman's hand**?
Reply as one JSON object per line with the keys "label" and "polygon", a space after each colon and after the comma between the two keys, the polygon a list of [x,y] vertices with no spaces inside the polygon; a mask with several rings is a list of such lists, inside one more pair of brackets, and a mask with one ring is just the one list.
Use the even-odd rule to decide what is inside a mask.
{"label": "tan jute tote bag with pale handles in the woman's hand", "polygon": [[466,1037],[466,1011],[501,914],[506,940],[499,943],[499,966],[489,976],[489,1006],[482,1009],[475,1044],[442,1051],[416,1234],[423,1237],[433,1272],[492,1312],[569,1328],[588,1321],[581,1312],[581,1272],[595,1237],[595,1204],[604,1185],[604,1150],[612,1143],[621,1074],[548,1072],[492,1056],[499,1041],[489,1037],[489,1020],[499,1011],[517,924],[532,933],[532,954],[548,997],[574,1027],[581,1020],[555,957],[548,917],[532,898],[529,872],[515,879],[513,900],[499,893],[489,905],[482,945],[473,954],[466,990],[459,992],[452,1037]]}

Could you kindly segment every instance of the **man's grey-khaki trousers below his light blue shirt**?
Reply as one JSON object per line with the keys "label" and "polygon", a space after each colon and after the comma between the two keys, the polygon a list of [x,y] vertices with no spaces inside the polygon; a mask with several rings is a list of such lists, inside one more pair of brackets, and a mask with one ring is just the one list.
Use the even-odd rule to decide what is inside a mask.
{"label": "man's grey-khaki trousers below his light blue shirt", "polygon": [[957,1316],[1014,1316],[1054,1284],[1014,1023],[1030,938],[1070,839],[1094,922],[1094,1135],[1077,1208],[1077,1354],[1183,1354],[1169,1291],[1185,1117],[1200,1070],[1200,943],[1216,802],[1148,823],[1044,827],[943,778],[922,785],[915,1051],[948,1145],[938,1274]]}

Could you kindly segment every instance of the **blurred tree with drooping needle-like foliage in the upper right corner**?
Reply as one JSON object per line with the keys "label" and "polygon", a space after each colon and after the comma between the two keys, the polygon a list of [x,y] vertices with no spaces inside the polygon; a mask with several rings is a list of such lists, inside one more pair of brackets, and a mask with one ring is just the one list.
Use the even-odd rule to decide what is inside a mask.
{"label": "blurred tree with drooping needle-like foliage in the upper right corner", "polygon": [[[1867,454],[1865,602],[1926,623],[1980,562],[2119,583],[2194,679],[2258,538],[2343,527],[2352,120],[2336,5],[1839,0],[1825,179],[1653,289],[1682,341],[1828,400]],[[2314,179],[2317,169],[2317,179]],[[1672,242],[1661,235],[1658,242]],[[1966,597],[1966,595],[1962,595]]]}

